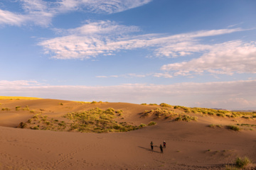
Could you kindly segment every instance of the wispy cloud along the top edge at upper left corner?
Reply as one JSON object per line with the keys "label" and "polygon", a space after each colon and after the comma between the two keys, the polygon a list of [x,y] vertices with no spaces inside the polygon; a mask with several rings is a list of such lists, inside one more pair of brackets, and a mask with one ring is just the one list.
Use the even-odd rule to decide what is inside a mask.
{"label": "wispy cloud along the top edge at upper left corner", "polygon": [[[47,27],[52,18],[70,11],[87,13],[118,13],[130,8],[148,4],[151,0],[17,0],[21,4],[22,13],[13,13],[0,9],[0,25],[21,26],[34,23]],[[13,3],[14,3],[13,2]],[[0,6],[1,7],[1,6]]]}

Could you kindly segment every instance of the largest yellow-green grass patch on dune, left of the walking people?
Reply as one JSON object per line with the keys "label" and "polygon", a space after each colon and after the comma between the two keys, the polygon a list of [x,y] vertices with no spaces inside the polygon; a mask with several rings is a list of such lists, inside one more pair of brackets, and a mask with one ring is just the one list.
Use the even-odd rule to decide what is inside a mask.
{"label": "largest yellow-green grass patch on dune, left of the walking people", "polygon": [[[67,113],[63,116],[65,121],[48,118],[47,115],[36,114],[26,123],[20,123],[18,128],[30,128],[33,130],[61,130],[78,132],[127,132],[144,128],[133,123],[117,123],[114,118],[122,114],[122,110],[114,111],[114,108],[107,108],[105,111],[100,108],[93,108],[89,111]],[[155,125],[156,123],[153,122]],[[153,125],[149,123],[149,125]]]}

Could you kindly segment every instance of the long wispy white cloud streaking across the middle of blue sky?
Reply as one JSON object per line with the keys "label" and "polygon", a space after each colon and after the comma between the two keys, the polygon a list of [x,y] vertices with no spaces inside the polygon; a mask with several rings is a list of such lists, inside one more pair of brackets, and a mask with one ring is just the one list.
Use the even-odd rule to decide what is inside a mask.
{"label": "long wispy white cloud streaking across the middle of blue sky", "polygon": [[[222,30],[201,30],[178,35],[133,35],[136,26],[122,26],[111,21],[87,23],[80,28],[58,30],[62,37],[40,42],[46,53],[57,59],[90,59],[97,55],[113,55],[119,50],[150,48],[155,56],[177,57],[203,52],[211,45],[200,44],[198,38],[242,31],[240,28]],[[67,35],[68,34],[68,35]]]}

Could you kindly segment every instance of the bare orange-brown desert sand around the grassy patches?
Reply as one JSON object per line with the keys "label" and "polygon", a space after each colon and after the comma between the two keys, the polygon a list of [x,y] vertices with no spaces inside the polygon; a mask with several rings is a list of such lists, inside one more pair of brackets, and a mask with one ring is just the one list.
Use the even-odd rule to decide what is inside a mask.
{"label": "bare orange-brown desert sand around the grassy patches", "polygon": [[[256,128],[240,131],[215,125],[255,125],[255,119],[220,118],[187,113],[197,121],[141,118],[139,113],[160,106],[132,103],[78,103],[53,99],[0,100],[0,169],[225,169],[236,157],[256,162]],[[61,104],[60,104],[61,103]],[[16,106],[30,111],[16,111]],[[16,128],[36,113],[60,120],[63,115],[90,108],[122,109],[122,119],[139,125],[157,124],[129,132],[85,133]],[[1,111],[9,108],[9,111]],[[31,110],[33,110],[31,112]],[[174,110],[181,113],[178,109]],[[166,141],[161,154],[159,145]],[[154,142],[151,151],[150,142]],[[256,169],[255,164],[248,169]]]}

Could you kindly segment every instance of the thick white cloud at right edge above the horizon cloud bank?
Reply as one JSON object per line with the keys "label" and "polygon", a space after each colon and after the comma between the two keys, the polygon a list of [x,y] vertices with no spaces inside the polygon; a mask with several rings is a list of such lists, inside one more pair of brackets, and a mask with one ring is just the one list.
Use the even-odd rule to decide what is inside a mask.
{"label": "thick white cloud at right edge above the horizon cloud bank", "polygon": [[256,42],[230,41],[213,45],[201,57],[161,67],[177,75],[256,73]]}

